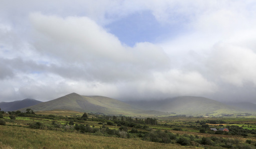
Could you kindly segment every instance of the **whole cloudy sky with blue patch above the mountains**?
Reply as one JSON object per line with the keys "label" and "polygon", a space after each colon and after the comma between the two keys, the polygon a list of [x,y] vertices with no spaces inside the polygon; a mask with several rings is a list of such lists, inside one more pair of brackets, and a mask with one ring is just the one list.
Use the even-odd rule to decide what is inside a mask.
{"label": "whole cloudy sky with blue patch above the mountains", "polygon": [[256,1],[0,0],[0,102],[72,92],[256,103]]}

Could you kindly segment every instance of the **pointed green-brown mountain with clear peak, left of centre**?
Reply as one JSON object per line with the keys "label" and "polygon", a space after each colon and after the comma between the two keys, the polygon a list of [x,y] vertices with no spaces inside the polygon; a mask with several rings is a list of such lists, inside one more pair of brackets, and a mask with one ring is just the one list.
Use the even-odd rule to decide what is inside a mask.
{"label": "pointed green-brown mountain with clear peak, left of centre", "polygon": [[[80,112],[102,113],[106,115],[152,115],[166,114],[159,111],[145,111],[132,107],[130,104],[104,96],[82,96],[71,93],[54,100],[42,102],[27,107],[34,111],[54,109],[72,110]],[[21,109],[24,111],[26,108]]]}

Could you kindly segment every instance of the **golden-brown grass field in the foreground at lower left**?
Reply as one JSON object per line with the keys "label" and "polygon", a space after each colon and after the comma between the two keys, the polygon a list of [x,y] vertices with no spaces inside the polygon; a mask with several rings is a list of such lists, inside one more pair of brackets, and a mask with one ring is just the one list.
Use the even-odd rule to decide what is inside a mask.
{"label": "golden-brown grass field in the foreground at lower left", "polygon": [[[0,149],[184,149],[173,144],[0,126]],[[193,148],[193,147],[191,147]]]}

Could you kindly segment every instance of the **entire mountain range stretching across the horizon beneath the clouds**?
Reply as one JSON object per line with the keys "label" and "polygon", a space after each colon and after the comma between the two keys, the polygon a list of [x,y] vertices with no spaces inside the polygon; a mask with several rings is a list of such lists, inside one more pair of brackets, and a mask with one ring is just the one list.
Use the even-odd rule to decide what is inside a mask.
{"label": "entire mountain range stretching across the horizon beneath the clouds", "polygon": [[47,102],[24,99],[13,102],[0,102],[3,111],[34,111],[72,110],[106,115],[129,116],[221,116],[246,112],[256,113],[256,104],[221,103],[212,99],[195,96],[180,96],[164,100],[152,101],[119,101],[104,96],[83,96],[70,93]]}

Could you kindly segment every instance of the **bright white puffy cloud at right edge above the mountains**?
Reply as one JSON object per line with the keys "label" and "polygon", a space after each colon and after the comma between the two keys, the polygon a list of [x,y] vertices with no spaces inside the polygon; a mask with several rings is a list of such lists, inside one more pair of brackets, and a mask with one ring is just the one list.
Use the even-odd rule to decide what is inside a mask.
{"label": "bright white puffy cloud at right edge above the mountains", "polygon": [[245,47],[219,44],[214,47],[209,65],[221,79],[237,86],[256,85],[256,53]]}

